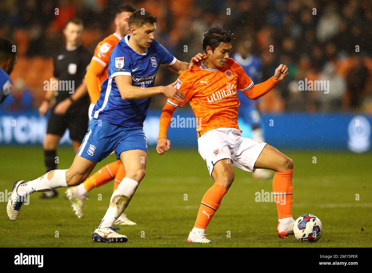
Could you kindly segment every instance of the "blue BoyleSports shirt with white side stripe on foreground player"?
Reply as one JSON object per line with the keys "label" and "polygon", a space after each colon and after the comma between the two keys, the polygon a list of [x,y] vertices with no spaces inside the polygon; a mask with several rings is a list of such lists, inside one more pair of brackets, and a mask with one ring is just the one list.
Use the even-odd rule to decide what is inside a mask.
{"label": "blue BoyleSports shirt with white side stripe on foreground player", "polygon": [[124,127],[142,128],[151,98],[123,100],[115,77],[128,75],[133,86],[153,87],[159,65],[173,65],[176,58],[155,40],[145,53],[137,53],[129,46],[130,37],[126,35],[111,52],[108,78],[102,83],[92,117]]}

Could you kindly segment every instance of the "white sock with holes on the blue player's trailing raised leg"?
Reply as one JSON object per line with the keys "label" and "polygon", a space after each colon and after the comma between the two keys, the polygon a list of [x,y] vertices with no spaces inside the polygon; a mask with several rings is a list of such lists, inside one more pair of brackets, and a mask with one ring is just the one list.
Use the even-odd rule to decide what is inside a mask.
{"label": "white sock with holes on the blue player's trailing raised leg", "polygon": [[47,192],[51,191],[52,189],[67,187],[66,171],[67,169],[55,170],[54,175],[50,180],[48,179],[48,173],[46,173],[44,177],[41,176],[35,180],[21,184],[22,186],[18,187],[17,192],[21,196],[26,196],[28,194],[32,194],[35,191]]}

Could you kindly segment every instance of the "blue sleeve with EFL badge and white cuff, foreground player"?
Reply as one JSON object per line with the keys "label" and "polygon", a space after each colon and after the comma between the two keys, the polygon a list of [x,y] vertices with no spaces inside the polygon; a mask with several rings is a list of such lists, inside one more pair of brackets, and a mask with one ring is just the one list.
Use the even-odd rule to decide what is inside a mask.
{"label": "blue sleeve with EFL badge and white cuff, foreground player", "polygon": [[112,50],[109,62],[109,75],[114,78],[118,75],[131,76],[132,62],[120,47],[118,43]]}

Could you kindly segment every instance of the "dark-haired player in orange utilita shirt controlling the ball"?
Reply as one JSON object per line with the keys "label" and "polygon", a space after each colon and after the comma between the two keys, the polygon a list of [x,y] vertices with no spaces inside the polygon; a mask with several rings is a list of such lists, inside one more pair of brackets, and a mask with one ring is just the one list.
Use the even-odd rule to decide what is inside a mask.
{"label": "dark-haired player in orange utilita shirt controlling the ball", "polygon": [[279,216],[277,233],[281,238],[293,234],[293,162],[264,142],[241,137],[237,122],[240,105],[237,92],[257,100],[288,75],[288,68],[281,64],[271,78],[254,85],[244,69],[229,58],[233,39],[233,34],[219,27],[212,27],[205,32],[205,59],[192,71],[183,71],[175,85],[185,94],[185,101],[179,103],[168,99],[160,117],[156,150],[163,155],[170,149],[167,129],[173,112],[189,101],[198,125],[199,153],[214,179],[214,185],[202,198],[194,228],[187,238],[188,243],[212,243],[205,237],[205,228],[234,181],[232,166],[248,172],[256,169],[275,170],[273,192]]}

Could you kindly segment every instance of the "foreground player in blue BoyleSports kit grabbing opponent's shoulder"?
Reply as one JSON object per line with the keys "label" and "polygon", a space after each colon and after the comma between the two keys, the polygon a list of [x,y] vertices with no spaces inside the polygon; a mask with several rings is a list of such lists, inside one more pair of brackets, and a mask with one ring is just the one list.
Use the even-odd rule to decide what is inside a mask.
{"label": "foreground player in blue BoyleSports kit grabbing opponent's shoulder", "polygon": [[70,169],[52,170],[45,175],[13,185],[7,204],[11,221],[19,215],[24,198],[35,192],[75,186],[83,182],[97,162],[113,150],[124,165],[126,176],[113,192],[109,208],[92,235],[96,242],[126,242],[119,228],[112,228],[115,220],[124,212],[138,184],[145,176],[147,142],[143,122],[147,116],[150,98],[163,94],[177,101],[184,101],[185,94],[167,86],[154,86],[160,65],[177,75],[191,69],[204,55],[198,54],[190,63],[180,62],[154,40],[157,18],[138,10],[129,17],[130,34],[121,39],[110,55],[108,78],[102,83],[100,98],[93,108],[92,120],[83,143]]}

